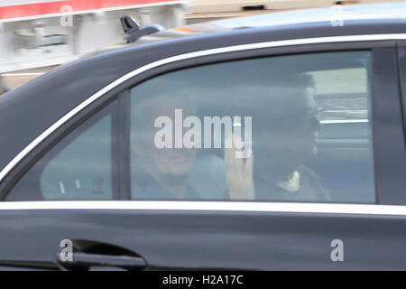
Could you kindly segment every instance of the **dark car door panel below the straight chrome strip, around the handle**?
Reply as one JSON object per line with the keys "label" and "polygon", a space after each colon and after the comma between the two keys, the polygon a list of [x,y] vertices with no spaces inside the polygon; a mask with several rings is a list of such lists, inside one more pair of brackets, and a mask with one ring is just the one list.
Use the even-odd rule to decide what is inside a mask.
{"label": "dark car door panel below the straight chrome strip, around the handle", "polygon": [[[7,248],[2,249],[0,265],[5,260],[51,265],[60,241],[69,238],[125,247],[143,256],[148,269],[406,269],[403,217],[28,210],[5,212],[0,226],[0,246]],[[330,242],[337,238],[345,245],[344,262],[330,259]]]}

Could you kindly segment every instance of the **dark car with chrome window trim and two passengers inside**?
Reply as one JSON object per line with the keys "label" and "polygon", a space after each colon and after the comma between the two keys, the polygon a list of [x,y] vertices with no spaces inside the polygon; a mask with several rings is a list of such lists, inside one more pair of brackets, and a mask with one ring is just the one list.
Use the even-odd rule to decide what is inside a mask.
{"label": "dark car with chrome window trim and two passengers inside", "polygon": [[342,9],[144,36],[1,96],[0,268],[405,270],[406,4]]}

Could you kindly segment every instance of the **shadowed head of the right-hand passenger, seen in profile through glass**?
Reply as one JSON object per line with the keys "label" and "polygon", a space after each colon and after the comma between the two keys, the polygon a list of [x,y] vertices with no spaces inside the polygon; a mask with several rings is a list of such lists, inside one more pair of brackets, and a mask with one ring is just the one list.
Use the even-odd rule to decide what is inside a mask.
{"label": "shadowed head of the right-hand passenger, seen in profile through glass", "polygon": [[305,89],[294,93],[269,98],[270,110],[261,117],[258,131],[253,131],[254,150],[263,155],[261,163],[301,163],[317,154],[318,107]]}

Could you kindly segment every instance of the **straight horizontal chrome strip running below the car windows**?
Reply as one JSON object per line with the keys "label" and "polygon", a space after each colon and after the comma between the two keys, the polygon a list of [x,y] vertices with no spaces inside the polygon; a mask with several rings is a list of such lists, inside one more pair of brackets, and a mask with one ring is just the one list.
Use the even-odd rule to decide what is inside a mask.
{"label": "straight horizontal chrome strip running below the car windows", "polygon": [[406,216],[406,206],[208,200],[5,201],[3,210],[184,210]]}

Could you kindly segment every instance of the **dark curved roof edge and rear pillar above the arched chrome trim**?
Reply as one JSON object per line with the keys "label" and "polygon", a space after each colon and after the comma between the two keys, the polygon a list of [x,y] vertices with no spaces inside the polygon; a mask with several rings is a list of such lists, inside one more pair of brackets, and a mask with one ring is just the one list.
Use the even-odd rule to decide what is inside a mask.
{"label": "dark curved roof edge and rear pillar above the arched chrome trim", "polygon": [[[364,5],[365,8],[366,6],[373,5]],[[328,9],[324,11],[327,12]],[[228,22],[225,20],[213,22],[217,23],[216,25],[206,23],[204,28],[207,29],[208,33],[198,33],[198,35],[197,33],[188,33],[179,29],[178,31],[176,29],[168,31],[166,33],[175,32],[176,34],[178,32],[178,34],[192,34],[193,36],[171,37],[167,41],[138,43],[113,51],[105,51],[63,65],[17,89],[5,93],[0,97],[0,135],[6,135],[6,137],[0,138],[0,147],[2,147],[0,151],[0,170],[24,147],[30,144],[35,137],[58,121],[60,117],[77,107],[78,104],[97,93],[100,89],[104,89],[116,79],[153,61],[193,51],[248,43],[309,37],[406,32],[406,21],[399,18],[351,20],[345,22],[343,27],[333,27],[329,21],[263,26],[263,24],[259,24],[264,23],[260,21],[260,19],[264,19],[263,17],[268,16],[240,18],[248,19],[242,21],[241,24],[244,27],[246,27],[247,23],[253,25],[258,23],[258,27],[245,29],[235,29],[235,26],[229,24],[231,20]],[[220,27],[218,23],[223,26]],[[226,25],[228,25],[228,28],[225,28]],[[211,27],[211,30],[208,27]],[[161,37],[160,35],[152,37],[157,36]]]}

